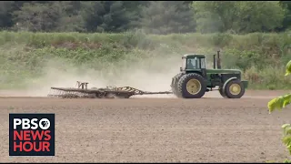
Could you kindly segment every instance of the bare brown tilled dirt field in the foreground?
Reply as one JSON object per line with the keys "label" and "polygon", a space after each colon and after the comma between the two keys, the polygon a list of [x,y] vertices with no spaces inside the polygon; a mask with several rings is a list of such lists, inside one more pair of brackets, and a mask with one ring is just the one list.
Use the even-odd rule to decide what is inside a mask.
{"label": "bare brown tilled dirt field in the foreground", "polygon": [[[241,99],[0,98],[0,162],[264,162],[288,157],[281,125],[291,110],[268,114],[283,91]],[[289,107],[288,107],[289,108]],[[8,114],[55,113],[55,157],[9,157]]]}

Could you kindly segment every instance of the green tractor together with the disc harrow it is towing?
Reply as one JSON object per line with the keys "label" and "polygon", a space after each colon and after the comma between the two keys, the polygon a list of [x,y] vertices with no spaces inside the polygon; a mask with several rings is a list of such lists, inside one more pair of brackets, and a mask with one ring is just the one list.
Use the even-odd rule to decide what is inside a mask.
{"label": "green tractor together with the disc harrow it is towing", "polygon": [[[171,91],[146,92],[134,87],[87,88],[86,82],[77,82],[75,88],[51,87],[55,92],[49,97],[97,97],[129,98],[135,95],[174,94],[181,98],[200,98],[208,91],[218,90],[222,97],[240,98],[245,95],[248,81],[242,80],[238,69],[222,69],[219,51],[214,55],[213,68],[206,68],[206,56],[188,54],[182,56],[180,72],[172,78]],[[217,66],[217,68],[216,68]],[[215,89],[218,87],[218,89]]]}

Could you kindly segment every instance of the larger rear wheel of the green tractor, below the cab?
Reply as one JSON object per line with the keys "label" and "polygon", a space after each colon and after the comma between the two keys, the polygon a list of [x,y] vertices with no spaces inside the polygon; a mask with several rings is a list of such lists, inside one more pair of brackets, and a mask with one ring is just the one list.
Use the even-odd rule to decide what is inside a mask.
{"label": "larger rear wheel of the green tractor, below the cab", "polygon": [[[187,83],[190,80],[194,80],[197,83],[199,83],[200,87],[195,89],[197,91],[196,93],[190,93],[187,90]],[[178,91],[181,94],[181,96],[184,98],[203,97],[206,94],[206,80],[204,79],[204,77],[201,77],[199,74],[196,74],[196,73],[186,74],[183,77],[181,77],[178,82]]]}

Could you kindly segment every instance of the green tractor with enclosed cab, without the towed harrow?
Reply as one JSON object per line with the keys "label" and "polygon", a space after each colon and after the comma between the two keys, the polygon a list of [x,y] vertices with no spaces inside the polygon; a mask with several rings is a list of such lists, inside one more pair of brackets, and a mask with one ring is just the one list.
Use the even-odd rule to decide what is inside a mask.
{"label": "green tractor with enclosed cab, without the towed harrow", "polygon": [[[219,90],[222,97],[240,98],[248,85],[237,69],[221,69],[219,51],[214,55],[213,69],[206,69],[206,56],[188,54],[182,56],[180,73],[172,78],[172,91],[176,97],[200,98],[208,91]],[[218,87],[218,89],[215,89]]]}

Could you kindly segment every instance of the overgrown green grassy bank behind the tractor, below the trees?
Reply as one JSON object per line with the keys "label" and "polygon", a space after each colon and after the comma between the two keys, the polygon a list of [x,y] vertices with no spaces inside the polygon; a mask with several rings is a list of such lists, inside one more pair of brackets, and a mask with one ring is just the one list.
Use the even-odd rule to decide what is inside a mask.
{"label": "overgrown green grassy bank behind the tractor, below the trees", "polygon": [[[291,87],[291,78],[284,77],[285,67],[281,65],[291,56],[286,46],[291,43],[291,37],[287,35],[189,33],[160,36],[146,35],[142,30],[118,34],[3,31],[0,32],[0,66],[3,67],[0,73],[5,75],[2,84],[13,87],[22,83],[21,79],[43,76],[45,63],[53,59],[98,71],[110,66],[112,72],[118,72],[120,67],[131,67],[128,64],[131,62],[150,66],[145,61],[156,60],[156,57],[176,57],[178,71],[178,59],[187,53],[211,55],[207,56],[207,67],[213,67],[212,55],[218,46],[222,52],[222,67],[242,69],[250,88],[286,89]],[[280,77],[284,78],[277,80]]]}

